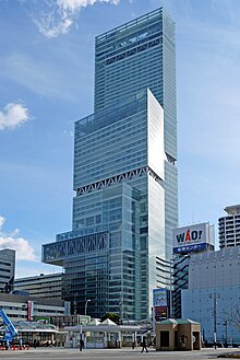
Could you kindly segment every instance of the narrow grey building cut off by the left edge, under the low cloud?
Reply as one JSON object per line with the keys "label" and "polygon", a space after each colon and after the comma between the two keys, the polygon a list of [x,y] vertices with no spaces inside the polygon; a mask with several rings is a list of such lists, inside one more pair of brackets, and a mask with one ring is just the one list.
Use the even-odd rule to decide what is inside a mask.
{"label": "narrow grey building cut off by the left edge, under the low cloud", "polygon": [[15,251],[0,251],[0,292],[9,293],[13,289],[15,275]]}

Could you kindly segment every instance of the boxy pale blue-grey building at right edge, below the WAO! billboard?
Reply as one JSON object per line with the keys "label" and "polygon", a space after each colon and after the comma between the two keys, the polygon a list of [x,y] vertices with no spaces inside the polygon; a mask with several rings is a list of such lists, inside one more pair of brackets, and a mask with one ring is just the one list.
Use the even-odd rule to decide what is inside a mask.
{"label": "boxy pale blue-grey building at right edge, below the WAO! billboard", "polygon": [[182,290],[182,316],[201,323],[211,344],[238,344],[240,247],[191,255],[189,288]]}

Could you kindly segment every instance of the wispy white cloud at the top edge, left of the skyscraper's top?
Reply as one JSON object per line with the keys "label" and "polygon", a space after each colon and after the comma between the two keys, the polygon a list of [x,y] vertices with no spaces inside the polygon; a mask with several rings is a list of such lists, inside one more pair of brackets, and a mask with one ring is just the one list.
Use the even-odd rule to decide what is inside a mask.
{"label": "wispy white cloud at the top edge, left of the skyscraper's top", "polygon": [[[51,38],[68,33],[82,8],[94,5],[95,3],[117,5],[119,2],[120,0],[44,0],[40,1],[44,10],[39,12],[35,9],[32,18],[39,32]],[[39,2],[35,1],[35,5],[38,7],[38,4]]]}

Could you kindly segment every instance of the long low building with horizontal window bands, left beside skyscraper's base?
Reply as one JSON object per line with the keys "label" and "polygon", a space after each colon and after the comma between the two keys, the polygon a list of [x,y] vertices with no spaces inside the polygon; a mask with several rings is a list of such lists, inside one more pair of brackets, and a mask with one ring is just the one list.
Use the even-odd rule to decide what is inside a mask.
{"label": "long low building with horizontal window bands, left beside skyscraper's base", "polygon": [[34,298],[62,300],[62,272],[19,278],[14,281],[14,293],[26,291]]}

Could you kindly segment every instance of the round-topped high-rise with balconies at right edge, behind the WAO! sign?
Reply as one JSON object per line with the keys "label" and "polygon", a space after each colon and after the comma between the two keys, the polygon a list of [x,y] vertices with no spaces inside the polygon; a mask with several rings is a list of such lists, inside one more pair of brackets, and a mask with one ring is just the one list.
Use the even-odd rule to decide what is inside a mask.
{"label": "round-topped high-rise with balconies at right edge, behind the WAO! sign", "polygon": [[225,208],[226,217],[218,219],[219,247],[240,245],[240,205]]}

